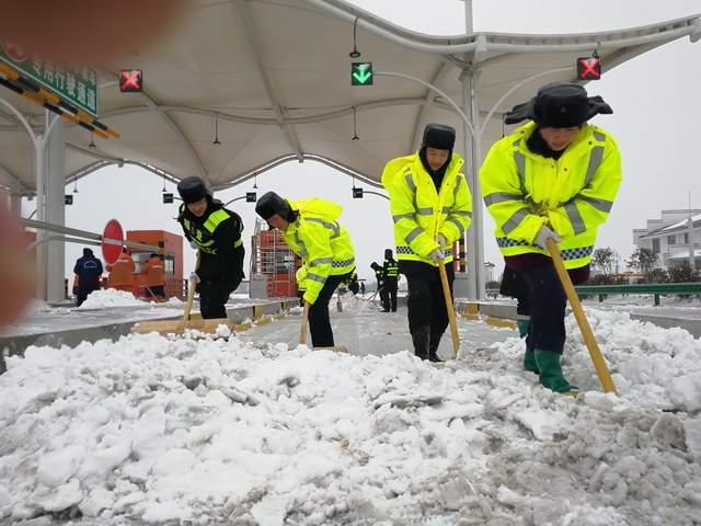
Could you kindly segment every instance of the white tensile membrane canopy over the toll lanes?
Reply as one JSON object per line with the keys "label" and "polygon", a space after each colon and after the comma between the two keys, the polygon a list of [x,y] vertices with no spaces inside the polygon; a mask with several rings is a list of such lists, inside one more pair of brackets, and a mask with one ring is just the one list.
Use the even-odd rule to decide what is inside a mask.
{"label": "white tensile membrane canopy over the toll lanes", "polygon": [[[358,58],[349,57],[354,28]],[[191,0],[177,26],[125,64],[143,71],[142,93],[120,93],[119,72],[100,69],[99,121],[120,138],[67,122],[66,181],[126,163],[172,182],[198,175],[217,191],[314,160],[380,186],[387,161],[413,153],[425,125],[443,123],[458,129],[481,214],[474,172],[502,137],[505,112],[543,83],[576,81],[579,57],[596,52],[610,70],[677,38],[696,42],[700,31],[694,15],[596,34],[435,37],[341,0]],[[350,84],[354,61],[372,62],[372,85]],[[0,96],[43,129],[44,107],[8,89]],[[0,184],[35,193],[35,164],[25,126],[0,105]]]}

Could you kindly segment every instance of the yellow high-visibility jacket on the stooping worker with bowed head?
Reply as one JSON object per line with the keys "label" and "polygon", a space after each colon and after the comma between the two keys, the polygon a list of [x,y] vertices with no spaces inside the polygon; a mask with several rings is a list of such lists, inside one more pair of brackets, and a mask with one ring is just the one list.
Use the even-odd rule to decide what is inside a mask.
{"label": "yellow high-visibility jacket on the stooping worker with bowed head", "polygon": [[281,231],[283,239],[309,268],[302,279],[307,286],[303,298],[313,304],[329,276],[355,268],[355,251],[350,236],[336,221],[343,211],[338,205],[317,197],[289,204],[299,216]]}

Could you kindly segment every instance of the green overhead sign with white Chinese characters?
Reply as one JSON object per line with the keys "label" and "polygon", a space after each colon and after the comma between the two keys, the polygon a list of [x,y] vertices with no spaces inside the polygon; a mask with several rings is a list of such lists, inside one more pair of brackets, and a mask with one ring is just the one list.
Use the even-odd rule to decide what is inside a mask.
{"label": "green overhead sign with white Chinese characters", "polygon": [[97,70],[89,66],[59,66],[1,41],[0,60],[69,104],[99,117]]}

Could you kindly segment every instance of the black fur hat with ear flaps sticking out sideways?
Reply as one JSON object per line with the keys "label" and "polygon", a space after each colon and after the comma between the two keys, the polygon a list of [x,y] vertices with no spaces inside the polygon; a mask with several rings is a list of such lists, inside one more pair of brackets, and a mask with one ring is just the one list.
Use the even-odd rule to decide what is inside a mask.
{"label": "black fur hat with ear flaps sticking out sideways", "polygon": [[582,85],[551,82],[541,87],[530,101],[514,106],[504,123],[530,119],[539,128],[575,128],[599,113],[611,114],[613,110],[600,96],[587,96]]}

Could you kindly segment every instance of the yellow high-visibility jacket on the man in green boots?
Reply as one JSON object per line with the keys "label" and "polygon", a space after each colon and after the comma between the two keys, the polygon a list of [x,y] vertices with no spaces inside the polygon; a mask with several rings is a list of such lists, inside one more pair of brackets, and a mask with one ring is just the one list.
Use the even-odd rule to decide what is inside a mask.
{"label": "yellow high-visibility jacket on the man in green boots", "polygon": [[598,226],[609,216],[622,180],[616,140],[584,124],[558,160],[532,153],[526,145],[529,123],[496,142],[480,171],[482,196],[496,221],[504,255],[548,254],[533,244],[542,225],[558,232],[566,268],[586,265]]}

